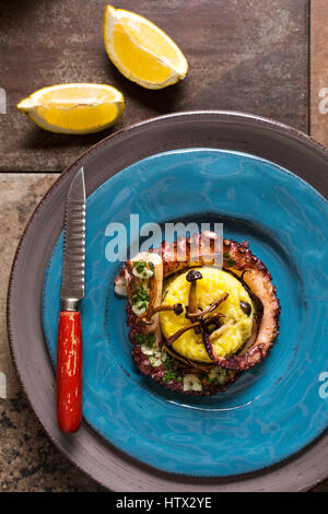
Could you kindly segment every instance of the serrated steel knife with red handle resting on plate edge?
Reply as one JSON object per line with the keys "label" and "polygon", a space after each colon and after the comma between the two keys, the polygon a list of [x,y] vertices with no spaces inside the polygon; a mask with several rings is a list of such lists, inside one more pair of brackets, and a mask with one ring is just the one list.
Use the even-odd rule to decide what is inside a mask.
{"label": "serrated steel knife with red handle resting on plate edge", "polygon": [[61,312],[57,339],[57,418],[62,432],[75,432],[82,417],[82,327],[84,296],[85,186],[83,167],[73,177],[65,220]]}

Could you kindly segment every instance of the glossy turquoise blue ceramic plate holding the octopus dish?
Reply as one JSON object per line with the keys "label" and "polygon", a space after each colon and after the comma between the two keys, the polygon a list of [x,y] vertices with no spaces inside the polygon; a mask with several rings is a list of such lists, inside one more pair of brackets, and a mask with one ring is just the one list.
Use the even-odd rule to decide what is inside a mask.
{"label": "glossy turquoise blue ceramic plate holding the octopus dish", "polygon": [[[129,227],[180,219],[224,223],[268,266],[281,301],[269,357],[224,394],[190,398],[166,390],[132,363],[126,301],[114,294],[120,265],[105,257],[108,223]],[[195,149],[153,155],[87,198],[83,416],[103,437],[161,470],[224,477],[281,462],[328,424],[321,373],[328,370],[328,203],[268,161]],[[43,323],[52,362],[62,234],[44,283]],[[321,389],[320,389],[321,386]]]}

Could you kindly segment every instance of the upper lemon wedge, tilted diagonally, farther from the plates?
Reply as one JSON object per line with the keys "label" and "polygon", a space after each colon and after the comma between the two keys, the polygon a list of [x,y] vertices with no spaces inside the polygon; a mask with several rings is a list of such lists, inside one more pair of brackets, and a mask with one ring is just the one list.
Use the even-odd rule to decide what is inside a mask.
{"label": "upper lemon wedge, tilted diagonally, farther from the plates", "polygon": [[133,82],[150,90],[186,77],[187,60],[176,44],[139,14],[106,5],[104,42],[109,59]]}

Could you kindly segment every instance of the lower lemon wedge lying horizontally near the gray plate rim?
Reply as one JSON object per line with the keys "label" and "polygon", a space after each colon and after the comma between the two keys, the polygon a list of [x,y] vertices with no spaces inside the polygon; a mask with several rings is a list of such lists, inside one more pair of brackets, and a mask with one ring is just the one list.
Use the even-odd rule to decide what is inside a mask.
{"label": "lower lemon wedge lying horizontally near the gray plate rim", "polygon": [[60,84],[36,91],[17,109],[51,132],[92,133],[116,124],[125,101],[112,85]]}

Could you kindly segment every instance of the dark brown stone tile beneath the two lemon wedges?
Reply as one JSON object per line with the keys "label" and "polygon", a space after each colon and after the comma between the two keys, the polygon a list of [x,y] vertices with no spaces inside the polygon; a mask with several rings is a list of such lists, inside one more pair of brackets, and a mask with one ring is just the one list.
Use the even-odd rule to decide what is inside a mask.
{"label": "dark brown stone tile beneath the two lemon wedges", "polygon": [[[307,131],[308,0],[121,0],[171,35],[186,54],[185,81],[150,91],[125,79],[104,49],[104,0],[0,2],[0,171],[61,171],[116,129],[176,110],[234,109]],[[81,5],[83,9],[81,10]],[[126,98],[120,122],[86,137],[35,127],[15,104],[46,85],[104,82]]]}

